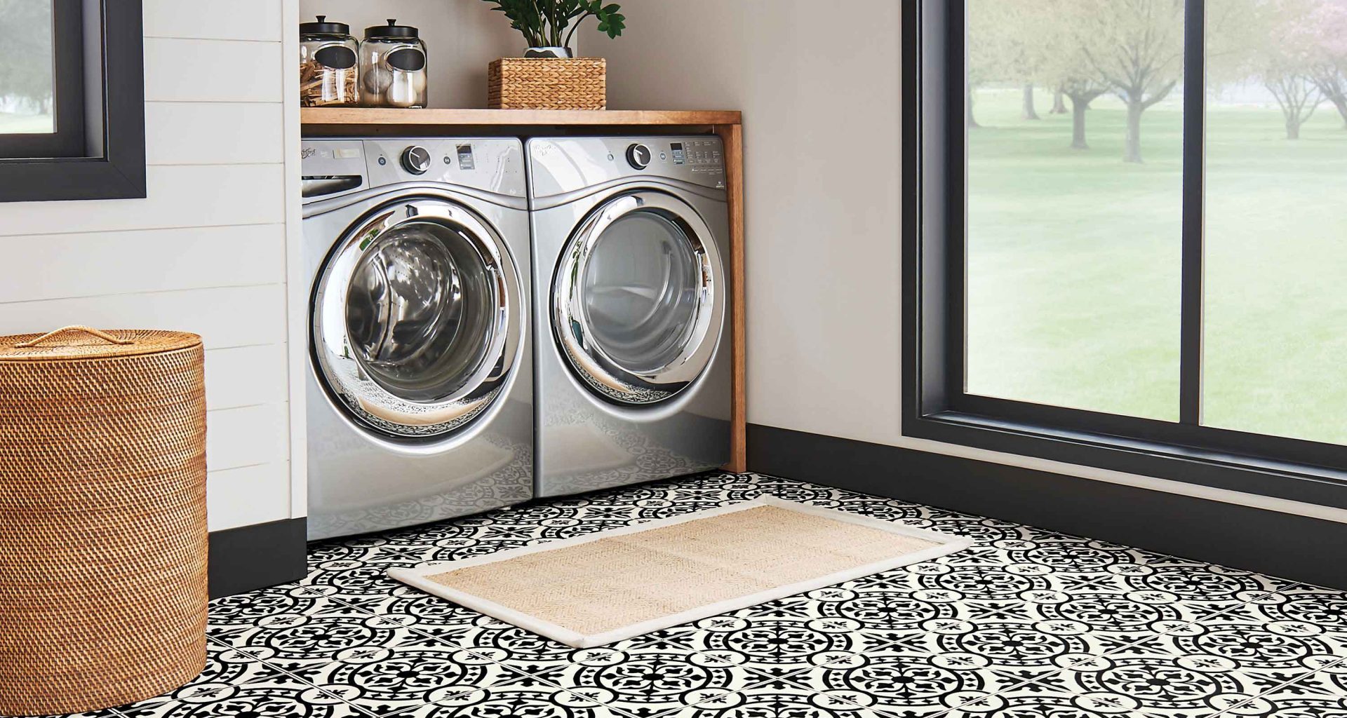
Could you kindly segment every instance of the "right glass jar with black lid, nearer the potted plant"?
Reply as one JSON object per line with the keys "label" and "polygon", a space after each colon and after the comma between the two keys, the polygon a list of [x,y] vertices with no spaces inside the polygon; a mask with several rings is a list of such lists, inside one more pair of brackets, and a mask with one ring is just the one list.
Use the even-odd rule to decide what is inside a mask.
{"label": "right glass jar with black lid, nearer the potted plant", "polygon": [[365,28],[360,43],[362,104],[373,108],[426,106],[426,44],[415,27],[388,20]]}

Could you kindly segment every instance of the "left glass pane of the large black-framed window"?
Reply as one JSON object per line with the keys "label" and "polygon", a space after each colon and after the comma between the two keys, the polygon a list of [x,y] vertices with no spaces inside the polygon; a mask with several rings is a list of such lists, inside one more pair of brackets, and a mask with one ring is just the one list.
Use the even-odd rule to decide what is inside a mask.
{"label": "left glass pane of the large black-framed window", "polygon": [[1156,5],[1144,42],[1129,3],[968,0],[968,393],[1179,418],[1184,18]]}

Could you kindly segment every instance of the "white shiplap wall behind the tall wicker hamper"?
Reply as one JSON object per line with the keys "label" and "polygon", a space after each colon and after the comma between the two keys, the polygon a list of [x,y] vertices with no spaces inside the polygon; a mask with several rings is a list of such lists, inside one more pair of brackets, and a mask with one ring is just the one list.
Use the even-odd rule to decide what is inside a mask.
{"label": "white shiplap wall behind the tall wicker hamper", "polygon": [[0,334],[71,323],[201,334],[216,531],[304,515],[287,356],[298,1],[201,11],[144,0],[147,198],[0,202]]}

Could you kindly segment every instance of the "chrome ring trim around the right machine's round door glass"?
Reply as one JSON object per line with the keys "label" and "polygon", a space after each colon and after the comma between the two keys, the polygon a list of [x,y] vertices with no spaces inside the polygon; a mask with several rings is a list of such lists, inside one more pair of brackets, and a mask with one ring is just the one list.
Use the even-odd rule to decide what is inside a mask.
{"label": "chrome ring trim around the right machine's round door glass", "polygon": [[[630,372],[590,338],[582,278],[594,245],[617,220],[651,211],[672,222],[688,242],[700,268],[696,315],[683,352],[651,372]],[[622,404],[653,404],[687,388],[710,365],[725,318],[725,273],[711,228],[691,205],[656,189],[638,189],[602,202],[572,233],[556,269],[552,291],[552,333],[575,373],[603,397]],[[714,334],[713,334],[714,329]]]}

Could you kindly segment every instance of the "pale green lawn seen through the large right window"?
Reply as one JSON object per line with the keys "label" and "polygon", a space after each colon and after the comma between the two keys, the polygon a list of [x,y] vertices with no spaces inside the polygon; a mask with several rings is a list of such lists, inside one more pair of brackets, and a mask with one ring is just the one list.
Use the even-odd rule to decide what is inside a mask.
{"label": "pale green lawn seen through the large right window", "polygon": [[[982,90],[968,133],[968,391],[1176,420],[1181,125],[1146,110],[1144,164],[1100,97],[1020,119]],[[1276,108],[1207,113],[1204,420],[1347,443],[1347,129],[1328,105],[1286,140]]]}

